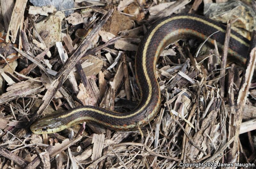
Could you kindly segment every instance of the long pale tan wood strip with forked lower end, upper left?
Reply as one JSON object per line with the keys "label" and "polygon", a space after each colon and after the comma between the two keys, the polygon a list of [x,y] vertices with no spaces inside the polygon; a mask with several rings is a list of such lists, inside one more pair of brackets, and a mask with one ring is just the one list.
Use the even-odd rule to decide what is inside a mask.
{"label": "long pale tan wood strip with forked lower end, upper left", "polygon": [[10,32],[11,32],[11,34],[12,34],[11,35],[11,37],[12,37],[11,41],[12,41],[12,43],[15,43],[16,36],[17,36],[18,30],[20,28],[20,23],[21,23],[20,21],[23,18],[27,1],[28,0],[17,0],[15,2],[15,6],[14,6],[14,9],[12,11],[12,17],[11,17],[10,25],[8,27],[8,31],[7,31],[7,34],[6,34],[6,39],[5,39],[6,42],[9,42],[9,35],[10,35]]}

